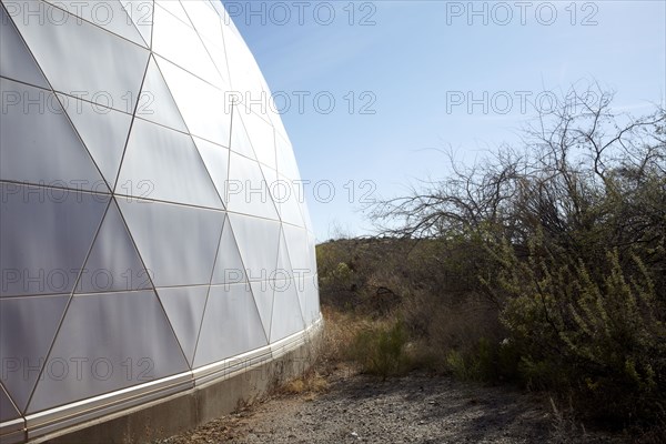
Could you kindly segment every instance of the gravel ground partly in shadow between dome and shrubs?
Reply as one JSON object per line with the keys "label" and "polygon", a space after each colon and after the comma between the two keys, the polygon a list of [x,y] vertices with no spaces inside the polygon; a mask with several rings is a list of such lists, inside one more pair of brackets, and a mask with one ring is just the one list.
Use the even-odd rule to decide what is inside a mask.
{"label": "gravel ground partly in shadow between dome and shrubs", "polygon": [[417,374],[382,382],[339,372],[329,382],[324,394],[274,395],[159,443],[623,442],[581,427],[574,436],[543,398],[506,387]]}

